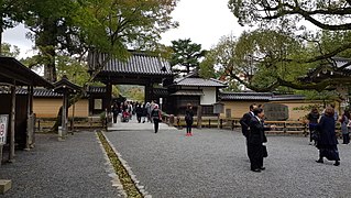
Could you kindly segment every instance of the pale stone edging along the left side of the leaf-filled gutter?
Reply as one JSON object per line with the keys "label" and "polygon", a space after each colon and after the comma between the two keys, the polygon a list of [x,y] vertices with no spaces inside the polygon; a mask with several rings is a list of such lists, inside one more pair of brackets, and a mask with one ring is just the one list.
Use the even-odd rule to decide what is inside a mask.
{"label": "pale stone edging along the left side of the leaf-filled gutter", "polygon": [[96,138],[97,138],[97,141],[98,141],[98,143],[99,143],[99,145],[100,145],[100,148],[101,148],[101,151],[102,151],[102,153],[103,153],[103,157],[105,157],[105,160],[106,160],[106,164],[105,164],[105,165],[107,166],[107,168],[106,168],[106,169],[107,169],[107,173],[109,173],[109,177],[112,178],[112,180],[111,180],[112,186],[113,186],[113,187],[117,187],[117,189],[119,190],[119,194],[120,194],[121,196],[128,197],[128,196],[127,196],[127,193],[125,193],[124,189],[123,189],[123,185],[122,185],[122,183],[121,183],[119,176],[116,174],[114,168],[113,168],[113,165],[111,164],[110,158],[109,158],[109,156],[107,155],[107,152],[105,151],[105,147],[103,147],[103,145],[102,145],[102,142],[101,142],[100,139],[99,139],[98,133],[96,133]]}

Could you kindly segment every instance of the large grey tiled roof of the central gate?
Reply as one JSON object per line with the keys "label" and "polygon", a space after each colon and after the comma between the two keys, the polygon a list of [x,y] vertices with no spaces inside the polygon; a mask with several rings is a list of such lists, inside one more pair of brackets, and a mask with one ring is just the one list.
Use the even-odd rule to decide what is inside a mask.
{"label": "large grey tiled roof of the central gate", "polygon": [[[173,76],[171,64],[166,59],[158,56],[152,56],[146,53],[131,53],[132,55],[127,59],[127,62],[113,58],[110,59],[101,73]],[[106,54],[89,53],[89,67],[94,68],[98,63],[102,63],[106,57]]]}

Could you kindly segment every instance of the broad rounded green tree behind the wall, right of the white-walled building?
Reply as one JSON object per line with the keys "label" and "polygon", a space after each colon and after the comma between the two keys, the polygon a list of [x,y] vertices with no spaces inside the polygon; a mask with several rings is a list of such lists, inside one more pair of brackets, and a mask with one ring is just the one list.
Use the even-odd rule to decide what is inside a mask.
{"label": "broad rounded green tree behind the wall, right of the white-walled building", "polygon": [[[201,63],[201,76],[213,77],[209,68],[216,67],[221,79],[244,85],[256,91],[273,91],[279,86],[310,89],[297,78],[312,64],[284,62],[304,56],[308,47],[294,36],[270,30],[244,32],[239,38],[223,37]],[[209,76],[208,76],[209,75]]]}

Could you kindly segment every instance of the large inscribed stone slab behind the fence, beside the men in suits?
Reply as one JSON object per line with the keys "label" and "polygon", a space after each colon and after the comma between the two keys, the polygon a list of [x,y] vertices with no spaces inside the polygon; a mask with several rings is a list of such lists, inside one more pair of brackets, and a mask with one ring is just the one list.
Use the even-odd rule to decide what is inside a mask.
{"label": "large inscribed stone slab behind the fence, beside the men in suits", "polygon": [[289,118],[287,106],[281,103],[265,103],[263,109],[265,120],[284,121]]}

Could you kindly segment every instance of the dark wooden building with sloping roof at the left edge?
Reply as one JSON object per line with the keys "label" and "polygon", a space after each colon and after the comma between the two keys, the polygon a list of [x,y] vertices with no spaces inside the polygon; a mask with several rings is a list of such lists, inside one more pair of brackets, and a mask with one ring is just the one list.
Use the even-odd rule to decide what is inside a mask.
{"label": "dark wooden building with sloping roof at the left edge", "polygon": [[[28,94],[18,96],[17,89],[26,87]],[[53,85],[22,65],[13,57],[0,56],[0,114],[8,116],[9,160],[14,157],[14,145],[20,148],[34,146],[34,87],[53,88]],[[4,123],[2,123],[4,124]]]}

